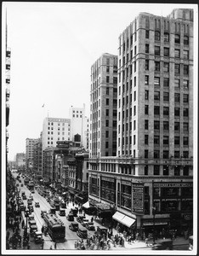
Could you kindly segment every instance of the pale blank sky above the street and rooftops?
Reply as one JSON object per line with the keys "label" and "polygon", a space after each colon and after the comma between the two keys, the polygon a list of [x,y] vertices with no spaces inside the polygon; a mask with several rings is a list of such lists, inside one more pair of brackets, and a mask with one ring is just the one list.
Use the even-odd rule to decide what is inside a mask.
{"label": "pale blank sky above the street and rooftops", "polygon": [[117,55],[119,35],[140,12],[167,16],[176,8],[196,5],[4,2],[11,48],[9,160],[26,153],[27,137],[40,137],[45,117],[69,118],[69,108],[83,103],[89,117],[94,62],[103,53]]}

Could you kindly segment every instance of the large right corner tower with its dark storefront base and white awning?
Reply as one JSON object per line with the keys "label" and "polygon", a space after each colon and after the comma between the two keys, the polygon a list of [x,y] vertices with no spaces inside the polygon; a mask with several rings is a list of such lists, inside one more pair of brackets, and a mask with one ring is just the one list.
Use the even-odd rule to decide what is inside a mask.
{"label": "large right corner tower with its dark storefront base and white awning", "polygon": [[117,157],[90,159],[89,198],[122,230],[193,223],[193,10],[140,13],[119,37]]}

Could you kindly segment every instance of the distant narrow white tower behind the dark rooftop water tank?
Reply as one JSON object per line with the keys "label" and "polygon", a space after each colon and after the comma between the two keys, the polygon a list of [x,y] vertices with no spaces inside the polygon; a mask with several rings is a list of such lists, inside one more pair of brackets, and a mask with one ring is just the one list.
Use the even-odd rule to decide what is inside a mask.
{"label": "distant narrow white tower behind the dark rooftop water tank", "polygon": [[83,105],[83,108],[71,106],[69,109],[69,119],[71,119],[71,141],[75,142],[75,136],[78,134],[80,136],[79,145],[88,149],[89,119],[85,115],[85,105]]}

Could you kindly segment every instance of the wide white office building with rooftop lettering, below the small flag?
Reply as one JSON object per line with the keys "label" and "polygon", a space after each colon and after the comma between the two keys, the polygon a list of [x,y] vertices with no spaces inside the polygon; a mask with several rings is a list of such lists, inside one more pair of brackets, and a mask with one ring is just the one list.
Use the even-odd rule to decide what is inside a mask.
{"label": "wide white office building with rooftop lettering, below the small flag", "polygon": [[43,150],[56,147],[58,141],[71,140],[71,120],[45,118],[43,120]]}

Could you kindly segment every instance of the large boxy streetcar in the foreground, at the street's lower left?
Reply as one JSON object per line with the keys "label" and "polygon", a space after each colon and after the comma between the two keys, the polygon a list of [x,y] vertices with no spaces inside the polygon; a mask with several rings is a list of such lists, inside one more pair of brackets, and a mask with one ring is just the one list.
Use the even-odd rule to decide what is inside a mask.
{"label": "large boxy streetcar in the foreground, at the street's lower left", "polygon": [[55,214],[47,213],[43,216],[48,226],[48,235],[53,241],[65,240],[65,225]]}

